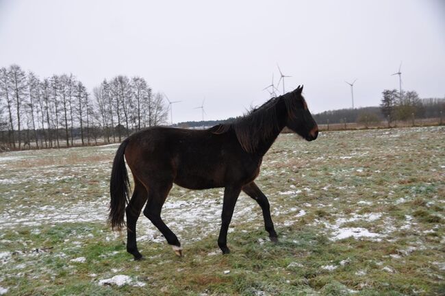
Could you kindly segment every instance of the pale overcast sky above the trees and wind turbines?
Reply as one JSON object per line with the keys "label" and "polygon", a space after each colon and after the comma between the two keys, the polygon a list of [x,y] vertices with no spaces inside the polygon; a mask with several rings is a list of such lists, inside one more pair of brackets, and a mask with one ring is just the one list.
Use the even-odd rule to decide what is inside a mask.
{"label": "pale overcast sky above the trees and wind turbines", "polygon": [[[445,97],[445,1],[0,0],[0,66],[40,77],[73,73],[92,90],[140,75],[164,92],[173,119],[241,115],[304,84],[312,113],[378,106],[385,88]],[[282,86],[279,87],[282,90]]]}

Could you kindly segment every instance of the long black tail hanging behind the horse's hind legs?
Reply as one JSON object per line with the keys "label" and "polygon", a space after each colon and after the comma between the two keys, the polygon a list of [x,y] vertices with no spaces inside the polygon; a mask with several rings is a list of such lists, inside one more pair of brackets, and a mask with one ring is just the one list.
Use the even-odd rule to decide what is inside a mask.
{"label": "long black tail hanging behind the horse's hind legs", "polygon": [[129,140],[125,139],[120,144],[116,156],[114,156],[110,178],[111,201],[108,222],[111,223],[113,230],[121,230],[125,225],[125,206],[129,202],[130,182],[124,160],[125,147],[128,143]]}

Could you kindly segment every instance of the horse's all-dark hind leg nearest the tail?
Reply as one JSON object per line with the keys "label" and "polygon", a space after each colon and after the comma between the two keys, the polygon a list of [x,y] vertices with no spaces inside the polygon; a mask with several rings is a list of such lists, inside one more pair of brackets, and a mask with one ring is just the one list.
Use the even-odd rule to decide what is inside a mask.
{"label": "horse's all-dark hind leg nearest the tail", "polygon": [[142,255],[138,251],[136,245],[136,222],[138,221],[140,211],[147,201],[147,190],[136,177],[133,178],[135,182],[133,195],[130,202],[125,209],[127,214],[127,252],[134,256],[134,260],[140,260]]}

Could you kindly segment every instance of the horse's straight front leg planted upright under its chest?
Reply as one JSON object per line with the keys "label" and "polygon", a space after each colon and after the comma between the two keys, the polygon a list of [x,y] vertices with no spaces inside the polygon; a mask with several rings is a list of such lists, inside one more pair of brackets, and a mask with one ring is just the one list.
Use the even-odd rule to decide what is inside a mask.
{"label": "horse's straight front leg planted upright under its chest", "polygon": [[223,213],[221,214],[221,229],[218,236],[218,246],[223,254],[229,254],[230,250],[227,247],[227,230],[232,219],[233,209],[235,208],[236,200],[240,195],[240,187],[227,186],[224,190]]}

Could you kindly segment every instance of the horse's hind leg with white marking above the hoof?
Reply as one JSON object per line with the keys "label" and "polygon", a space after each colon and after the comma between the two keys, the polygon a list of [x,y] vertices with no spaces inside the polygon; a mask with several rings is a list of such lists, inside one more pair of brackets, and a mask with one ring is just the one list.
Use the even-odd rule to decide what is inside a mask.
{"label": "horse's hind leg with white marking above the hoof", "polygon": [[144,215],[150,219],[151,223],[164,235],[167,243],[173,247],[173,251],[177,256],[182,256],[181,243],[177,236],[167,227],[162,221],[161,210],[173,184],[166,184],[165,186],[149,186],[149,201],[144,208]]}

